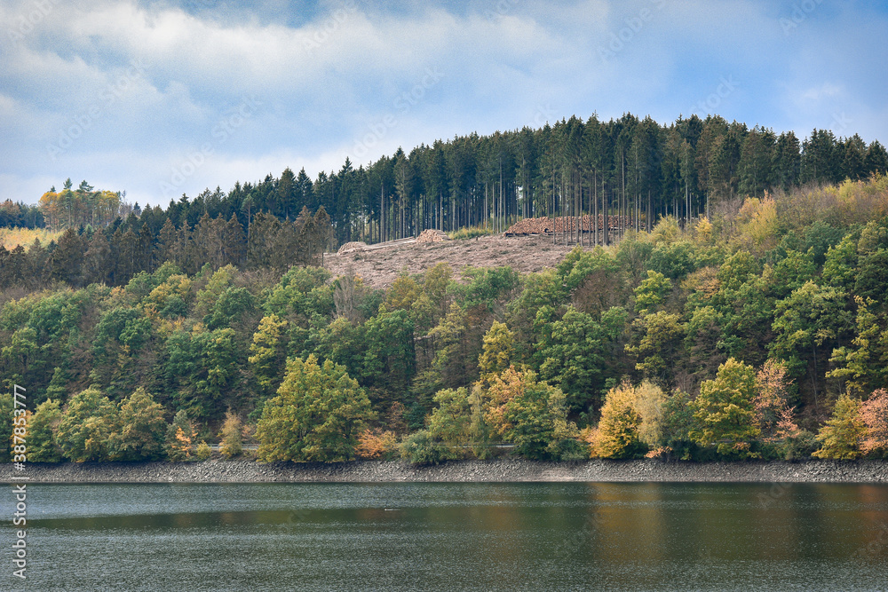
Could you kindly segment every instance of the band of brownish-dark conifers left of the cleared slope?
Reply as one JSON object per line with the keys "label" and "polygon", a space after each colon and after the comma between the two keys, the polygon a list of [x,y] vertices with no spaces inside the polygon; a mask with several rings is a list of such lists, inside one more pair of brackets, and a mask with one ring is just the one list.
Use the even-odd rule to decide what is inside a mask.
{"label": "band of brownish-dark conifers left of the cleared slope", "polygon": [[246,232],[234,216],[226,220],[204,213],[194,227],[177,227],[168,217],[131,214],[105,227],[68,227],[45,247],[39,240],[28,249],[0,245],[0,286],[123,286],[139,272],[154,272],[168,261],[187,274],[204,265],[217,269],[229,264],[284,272],[293,264],[318,263],[330,234],[323,208],[313,215],[303,209],[294,221],[259,213]]}

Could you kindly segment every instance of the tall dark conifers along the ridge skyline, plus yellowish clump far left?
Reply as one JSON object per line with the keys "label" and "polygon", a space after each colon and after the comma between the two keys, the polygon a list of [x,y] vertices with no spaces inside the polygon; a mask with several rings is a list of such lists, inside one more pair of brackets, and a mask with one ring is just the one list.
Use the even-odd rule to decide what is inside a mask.
{"label": "tall dark conifers along the ridge skyline, plus yellowish clump far left", "polygon": [[[607,122],[593,115],[537,130],[438,140],[357,169],[346,158],[340,170],[315,179],[305,169],[288,168],[279,178],[235,183],[227,193],[217,187],[194,199],[183,195],[166,209],[132,209],[157,232],[167,218],[180,228],[194,227],[204,214],[234,216],[249,228],[258,212],[292,220],[303,208],[323,207],[340,244],[398,239],[426,228],[502,231],[521,217],[583,214],[614,216],[619,237],[628,228],[650,230],[667,215],[685,225],[741,195],[762,197],[765,191],[886,171],[884,146],[875,140],[867,145],[857,134],[836,138],[832,131],[812,130],[800,140],[792,131],[778,135],[717,115],[668,125],[633,114]],[[85,181],[72,191],[68,182],[62,192],[53,188],[44,195],[44,217],[57,227],[110,224],[115,194],[92,191]],[[595,236],[604,244],[610,238]]]}

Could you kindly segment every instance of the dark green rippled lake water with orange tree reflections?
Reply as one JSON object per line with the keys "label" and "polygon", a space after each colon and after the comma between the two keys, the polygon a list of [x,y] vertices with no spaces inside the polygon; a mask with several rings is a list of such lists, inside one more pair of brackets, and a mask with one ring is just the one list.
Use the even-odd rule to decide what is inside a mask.
{"label": "dark green rippled lake water with orange tree reflections", "polygon": [[888,588],[885,485],[33,484],[28,518],[0,589]]}

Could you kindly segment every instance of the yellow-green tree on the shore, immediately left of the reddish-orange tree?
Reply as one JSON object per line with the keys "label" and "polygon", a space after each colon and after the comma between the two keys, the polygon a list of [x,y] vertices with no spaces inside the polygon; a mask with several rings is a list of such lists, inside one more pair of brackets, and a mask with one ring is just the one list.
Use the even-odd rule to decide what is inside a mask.
{"label": "yellow-green tree on the shore, immediately left of the reddish-orange tree", "polygon": [[718,367],[715,380],[700,385],[694,418],[700,427],[691,438],[701,446],[717,445],[718,454],[749,458],[758,438],[754,400],[756,371],[730,358]]}

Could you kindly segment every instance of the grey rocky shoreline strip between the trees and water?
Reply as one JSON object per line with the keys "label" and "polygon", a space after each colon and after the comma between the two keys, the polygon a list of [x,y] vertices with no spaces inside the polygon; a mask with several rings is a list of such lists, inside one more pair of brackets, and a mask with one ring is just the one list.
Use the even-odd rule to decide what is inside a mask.
{"label": "grey rocky shoreline strip between the trees and water", "polygon": [[0,465],[0,482],[21,482],[21,478],[28,478],[30,483],[888,483],[888,462],[535,462],[508,459],[417,467],[397,461],[263,464],[250,460],[210,460],[28,463],[23,471],[15,470],[11,463]]}

